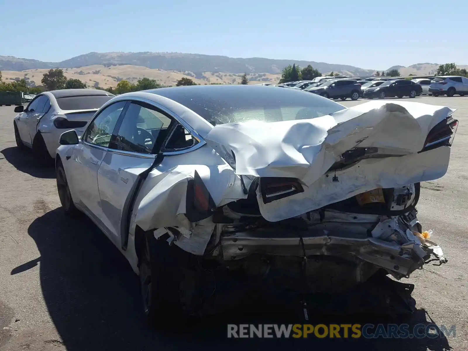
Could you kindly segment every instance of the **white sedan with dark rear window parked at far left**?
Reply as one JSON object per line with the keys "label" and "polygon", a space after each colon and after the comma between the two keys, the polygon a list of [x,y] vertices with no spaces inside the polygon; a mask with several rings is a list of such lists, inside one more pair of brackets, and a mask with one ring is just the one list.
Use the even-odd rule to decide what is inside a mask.
{"label": "white sedan with dark rear window parked at far left", "polygon": [[17,106],[13,127],[16,145],[30,147],[40,163],[55,158],[60,134],[74,129],[78,135],[104,102],[114,95],[97,89],[63,89],[39,94],[26,109]]}

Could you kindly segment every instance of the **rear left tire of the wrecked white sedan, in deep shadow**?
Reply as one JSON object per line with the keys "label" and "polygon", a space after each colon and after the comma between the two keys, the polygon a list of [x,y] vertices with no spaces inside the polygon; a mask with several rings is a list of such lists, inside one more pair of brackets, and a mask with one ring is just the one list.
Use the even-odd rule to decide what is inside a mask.
{"label": "rear left tire of the wrecked white sedan, in deep shadow", "polygon": [[[139,248],[139,281],[146,322],[157,329],[190,321],[181,303],[181,280],[187,266],[182,249],[169,246],[163,235],[145,232]],[[182,251],[182,252],[181,252]],[[186,254],[186,253],[185,253]]]}

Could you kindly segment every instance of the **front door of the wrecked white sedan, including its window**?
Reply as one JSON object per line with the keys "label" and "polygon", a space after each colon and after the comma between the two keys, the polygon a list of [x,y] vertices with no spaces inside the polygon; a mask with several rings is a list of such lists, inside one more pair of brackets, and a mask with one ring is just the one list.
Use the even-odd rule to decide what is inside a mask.
{"label": "front door of the wrecked white sedan, including its window", "polygon": [[78,145],[73,147],[66,166],[70,192],[75,202],[105,231],[102,226],[102,206],[97,187],[97,171],[101,165],[118,118],[127,102],[118,101],[100,110],[88,124]]}

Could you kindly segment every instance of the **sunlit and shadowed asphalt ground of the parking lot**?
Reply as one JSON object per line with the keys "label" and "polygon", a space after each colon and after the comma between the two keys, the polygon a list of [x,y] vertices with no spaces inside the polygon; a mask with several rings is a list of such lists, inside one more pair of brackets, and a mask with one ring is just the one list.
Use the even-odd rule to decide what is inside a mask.
{"label": "sunlit and shadowed asphalt ground of the parking lot", "polygon": [[[402,99],[409,101],[408,98]],[[449,170],[422,184],[419,219],[432,229],[448,263],[426,265],[406,282],[417,311],[406,321],[435,323],[456,335],[423,339],[227,339],[226,324],[270,314],[207,319],[190,331],[164,333],[141,318],[138,279],[124,257],[88,220],[65,219],[52,168],[38,168],[15,147],[14,106],[0,107],[0,350],[468,350],[468,96],[417,97],[458,109]],[[366,102],[345,101],[345,106]],[[273,311],[274,312],[274,311]],[[274,315],[274,313],[273,313]],[[312,316],[312,323],[353,322],[353,316]],[[359,316],[359,322],[366,316]],[[365,321],[366,322],[366,321]]]}

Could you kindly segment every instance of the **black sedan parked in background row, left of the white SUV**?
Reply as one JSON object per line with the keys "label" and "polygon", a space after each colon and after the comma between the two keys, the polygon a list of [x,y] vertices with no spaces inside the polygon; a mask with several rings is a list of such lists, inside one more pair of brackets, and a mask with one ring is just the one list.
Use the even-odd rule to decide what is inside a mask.
{"label": "black sedan parked in background row, left of the white SUV", "polygon": [[378,87],[364,90],[363,97],[384,99],[386,97],[416,97],[423,92],[421,85],[407,79],[388,80]]}

